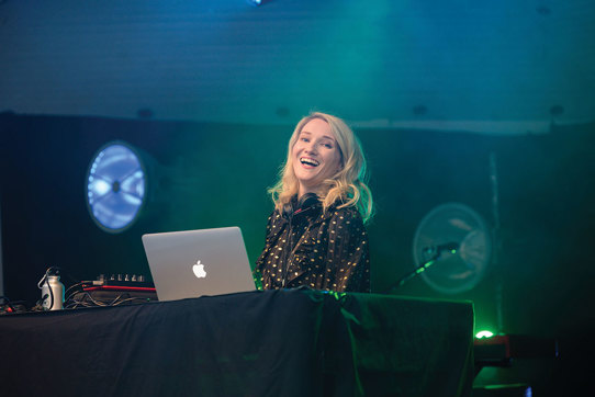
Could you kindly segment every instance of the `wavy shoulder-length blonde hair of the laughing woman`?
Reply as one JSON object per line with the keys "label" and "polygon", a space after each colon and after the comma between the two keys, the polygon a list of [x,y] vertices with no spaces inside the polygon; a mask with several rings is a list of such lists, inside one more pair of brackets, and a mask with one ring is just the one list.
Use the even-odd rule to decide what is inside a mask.
{"label": "wavy shoulder-length blonde hair of the laughing woman", "polygon": [[367,223],[372,216],[373,203],[372,193],[367,185],[368,170],[361,144],[343,120],[319,112],[313,112],[302,118],[293,131],[289,140],[288,159],[281,168],[279,181],[269,189],[274,207],[282,212],[283,206],[300,191],[300,181],[293,171],[292,149],[302,128],[314,118],[321,118],[330,126],[338,145],[341,163],[341,169],[330,179],[325,180],[317,193],[323,203],[323,209],[326,211],[330,205],[340,202],[337,208],[355,206]]}

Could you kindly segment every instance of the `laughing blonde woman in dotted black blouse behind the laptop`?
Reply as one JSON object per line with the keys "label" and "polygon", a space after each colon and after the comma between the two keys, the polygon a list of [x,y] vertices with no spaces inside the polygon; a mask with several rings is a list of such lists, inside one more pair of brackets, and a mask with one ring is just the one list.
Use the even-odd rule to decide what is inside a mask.
{"label": "laughing blonde woman in dotted black blouse behind the laptop", "polygon": [[269,192],[274,211],[255,269],[261,288],[370,292],[363,224],[372,195],[363,152],[345,122],[324,113],[302,118]]}

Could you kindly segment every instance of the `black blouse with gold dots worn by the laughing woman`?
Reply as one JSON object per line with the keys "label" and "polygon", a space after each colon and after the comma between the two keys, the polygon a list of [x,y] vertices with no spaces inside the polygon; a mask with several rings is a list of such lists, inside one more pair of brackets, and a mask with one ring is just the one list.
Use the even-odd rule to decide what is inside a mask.
{"label": "black blouse with gold dots worn by the laughing woman", "polygon": [[[287,264],[287,266],[285,266]],[[290,220],[274,211],[255,281],[260,288],[307,286],[370,292],[368,232],[355,207],[321,207]]]}

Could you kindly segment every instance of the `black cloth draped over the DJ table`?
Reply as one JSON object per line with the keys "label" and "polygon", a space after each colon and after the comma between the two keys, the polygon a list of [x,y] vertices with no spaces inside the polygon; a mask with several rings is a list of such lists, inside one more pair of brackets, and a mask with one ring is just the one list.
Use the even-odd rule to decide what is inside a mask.
{"label": "black cloth draped over the DJ table", "polygon": [[469,396],[470,303],[269,291],[0,318],[2,396]]}

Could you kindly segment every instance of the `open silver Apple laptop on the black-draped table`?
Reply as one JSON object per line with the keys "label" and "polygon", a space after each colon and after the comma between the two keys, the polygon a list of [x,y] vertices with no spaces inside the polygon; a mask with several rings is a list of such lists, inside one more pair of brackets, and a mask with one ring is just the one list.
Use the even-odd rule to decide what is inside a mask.
{"label": "open silver Apple laptop on the black-draped table", "polygon": [[159,300],[255,291],[239,227],[143,235]]}

